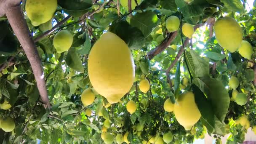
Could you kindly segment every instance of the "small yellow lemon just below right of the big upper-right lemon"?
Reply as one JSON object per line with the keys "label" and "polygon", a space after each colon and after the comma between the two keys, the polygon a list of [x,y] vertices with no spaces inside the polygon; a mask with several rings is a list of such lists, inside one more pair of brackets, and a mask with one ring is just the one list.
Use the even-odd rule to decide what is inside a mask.
{"label": "small yellow lemon just below right of the big upper-right lemon", "polygon": [[248,41],[243,40],[240,48],[238,49],[238,52],[244,58],[251,59],[251,55],[253,54],[253,47]]}

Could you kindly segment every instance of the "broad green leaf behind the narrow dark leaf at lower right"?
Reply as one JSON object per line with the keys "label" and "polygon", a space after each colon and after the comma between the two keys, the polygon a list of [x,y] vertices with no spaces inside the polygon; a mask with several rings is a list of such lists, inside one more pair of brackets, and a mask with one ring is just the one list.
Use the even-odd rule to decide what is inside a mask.
{"label": "broad green leaf behind the narrow dark leaf at lower right", "polygon": [[230,98],[222,82],[210,77],[202,77],[195,78],[193,83],[205,93],[214,109],[214,114],[221,122],[224,122]]}

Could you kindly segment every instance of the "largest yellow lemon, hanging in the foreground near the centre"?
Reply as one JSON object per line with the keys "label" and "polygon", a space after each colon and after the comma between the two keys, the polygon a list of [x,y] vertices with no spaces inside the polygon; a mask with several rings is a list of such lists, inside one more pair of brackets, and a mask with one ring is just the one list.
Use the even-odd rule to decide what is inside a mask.
{"label": "largest yellow lemon, hanging in the foreground near the centre", "polygon": [[127,44],[112,32],[106,32],[89,54],[88,73],[93,88],[110,104],[130,91],[135,79],[133,56]]}

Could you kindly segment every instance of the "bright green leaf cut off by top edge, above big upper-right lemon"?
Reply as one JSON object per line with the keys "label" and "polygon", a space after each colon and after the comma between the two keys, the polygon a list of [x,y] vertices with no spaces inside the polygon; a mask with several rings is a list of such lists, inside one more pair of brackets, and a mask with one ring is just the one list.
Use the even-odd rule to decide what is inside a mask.
{"label": "bright green leaf cut off by top edge, above big upper-right lemon", "polygon": [[244,13],[244,7],[241,3],[241,0],[220,0],[221,3],[224,3],[224,8],[226,12],[238,12]]}

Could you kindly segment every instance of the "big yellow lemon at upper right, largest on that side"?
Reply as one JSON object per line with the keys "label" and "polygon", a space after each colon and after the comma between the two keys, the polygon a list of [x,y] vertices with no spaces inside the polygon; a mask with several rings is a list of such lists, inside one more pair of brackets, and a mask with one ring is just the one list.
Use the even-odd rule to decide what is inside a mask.
{"label": "big yellow lemon at upper right, largest on that side", "polygon": [[230,52],[235,52],[243,40],[243,32],[240,25],[231,17],[219,18],[213,26],[216,40],[221,47]]}

